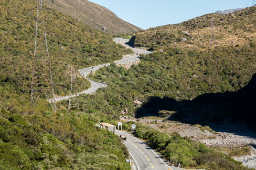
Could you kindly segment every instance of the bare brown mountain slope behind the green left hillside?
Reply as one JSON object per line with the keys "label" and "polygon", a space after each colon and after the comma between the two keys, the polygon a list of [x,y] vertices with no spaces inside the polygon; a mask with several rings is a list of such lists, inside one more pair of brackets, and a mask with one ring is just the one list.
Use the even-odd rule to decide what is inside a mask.
{"label": "bare brown mountain slope behind the green left hillside", "polygon": [[44,3],[55,10],[69,15],[86,25],[111,34],[136,33],[142,29],[117,17],[107,8],[88,0],[44,0]]}

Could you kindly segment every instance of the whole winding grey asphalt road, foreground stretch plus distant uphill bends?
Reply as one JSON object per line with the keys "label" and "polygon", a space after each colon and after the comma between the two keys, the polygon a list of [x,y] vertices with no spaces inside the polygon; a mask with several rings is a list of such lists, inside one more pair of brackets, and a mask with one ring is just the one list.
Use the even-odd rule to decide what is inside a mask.
{"label": "whole winding grey asphalt road, foreground stretch plus distant uphill bends", "polygon": [[[139,54],[150,53],[150,51],[147,51],[147,50],[136,49],[128,46],[127,44],[125,44],[126,42],[128,42],[128,39],[115,38],[115,42],[135,52],[135,55],[132,55],[126,59],[114,61],[116,64],[122,64],[129,61],[134,61],[139,58]],[[83,77],[85,77],[85,79],[91,82],[91,88],[79,92],[78,95],[91,94],[96,92],[96,90],[98,90],[99,88],[107,87],[107,84],[105,84],[104,82],[90,80],[86,76],[93,71],[99,70],[100,68],[107,67],[109,65],[110,63],[107,63],[107,64],[101,64],[101,65],[78,70],[80,74]],[[75,97],[75,95],[60,97],[60,98],[56,98],[55,100],[56,101],[67,100],[70,97]],[[48,101],[52,102],[53,99]],[[139,139],[135,138],[133,135],[128,134],[125,131],[117,130],[117,135],[120,135],[120,134],[125,134],[127,136],[127,140],[124,141],[124,144],[128,148],[129,154],[134,160],[133,170],[181,170],[180,168],[168,166],[167,162],[162,160],[160,156],[154,150],[152,150],[147,143],[140,141]]]}

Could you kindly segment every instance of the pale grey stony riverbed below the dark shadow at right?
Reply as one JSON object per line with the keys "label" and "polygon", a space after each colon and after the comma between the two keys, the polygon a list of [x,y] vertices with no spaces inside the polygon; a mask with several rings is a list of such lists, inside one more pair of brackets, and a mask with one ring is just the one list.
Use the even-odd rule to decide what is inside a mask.
{"label": "pale grey stony riverbed below the dark shadow at right", "polygon": [[[216,148],[221,151],[224,149],[232,151],[234,148],[237,149],[239,147],[244,148],[249,146],[249,152],[245,152],[245,155],[239,157],[233,156],[233,158],[241,161],[244,166],[256,169],[256,133],[249,130],[245,126],[242,126],[242,128],[241,126],[235,126],[234,124],[228,126],[229,128],[233,128],[233,131],[235,131],[234,128],[240,127],[237,128],[238,132],[234,134],[223,132],[226,129],[223,130],[224,127],[220,126],[213,128],[215,130],[213,131],[208,126],[202,127],[201,125],[184,124],[156,117],[152,117],[150,119],[140,118],[139,121],[147,123],[149,126],[166,132],[167,134],[178,132],[182,137],[189,136],[195,141],[201,142],[211,148]],[[225,126],[227,126],[227,124],[225,124]],[[214,125],[211,125],[211,127],[214,127]],[[225,153],[228,154],[228,152]]]}

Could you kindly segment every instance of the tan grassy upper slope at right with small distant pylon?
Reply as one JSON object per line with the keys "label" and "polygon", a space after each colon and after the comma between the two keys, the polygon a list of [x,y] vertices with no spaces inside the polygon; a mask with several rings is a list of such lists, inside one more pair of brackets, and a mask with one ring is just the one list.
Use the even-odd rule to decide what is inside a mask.
{"label": "tan grassy upper slope at right with small distant pylon", "polygon": [[[211,45],[212,19],[217,47],[245,45],[255,40],[256,7],[250,7],[226,15],[206,14],[180,24],[150,28],[136,34],[133,38],[134,44],[136,47],[144,46],[151,50],[164,50],[168,47],[207,50]],[[187,31],[190,35],[182,31]]]}

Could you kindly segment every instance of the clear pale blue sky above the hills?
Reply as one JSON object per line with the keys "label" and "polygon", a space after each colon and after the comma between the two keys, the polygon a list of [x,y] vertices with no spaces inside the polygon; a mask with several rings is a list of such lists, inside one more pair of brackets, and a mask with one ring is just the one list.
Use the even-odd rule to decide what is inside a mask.
{"label": "clear pale blue sky above the hills", "polygon": [[[89,0],[142,29],[180,23],[194,17],[252,6],[252,0]],[[256,0],[255,0],[256,1]]]}

